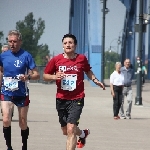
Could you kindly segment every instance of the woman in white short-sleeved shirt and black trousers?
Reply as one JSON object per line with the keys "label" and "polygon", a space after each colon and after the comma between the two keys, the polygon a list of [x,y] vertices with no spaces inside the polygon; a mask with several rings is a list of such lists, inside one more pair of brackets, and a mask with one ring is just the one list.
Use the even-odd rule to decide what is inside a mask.
{"label": "woman in white short-sleeved shirt and black trousers", "polygon": [[121,73],[121,63],[116,62],[115,64],[115,71],[110,75],[110,88],[111,88],[111,95],[113,97],[113,112],[114,112],[114,119],[118,120],[120,117],[119,109],[122,104],[122,91],[124,87],[124,75]]}

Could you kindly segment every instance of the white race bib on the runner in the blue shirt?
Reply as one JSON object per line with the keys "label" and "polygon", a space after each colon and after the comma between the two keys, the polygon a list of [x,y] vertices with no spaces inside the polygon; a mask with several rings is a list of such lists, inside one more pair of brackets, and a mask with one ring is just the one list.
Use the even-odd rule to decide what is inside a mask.
{"label": "white race bib on the runner in the blue shirt", "polygon": [[4,77],[5,90],[15,91],[18,90],[18,79],[12,79],[11,77]]}

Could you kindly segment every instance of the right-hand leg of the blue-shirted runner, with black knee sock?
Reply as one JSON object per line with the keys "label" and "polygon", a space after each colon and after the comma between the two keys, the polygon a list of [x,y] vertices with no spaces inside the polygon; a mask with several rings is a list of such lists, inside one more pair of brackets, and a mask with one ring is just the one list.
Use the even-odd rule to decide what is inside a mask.
{"label": "right-hand leg of the blue-shirted runner, with black knee sock", "polygon": [[27,150],[27,139],[29,136],[29,128],[27,126],[27,113],[29,106],[18,107],[19,112],[19,126],[21,128],[22,136],[22,150]]}

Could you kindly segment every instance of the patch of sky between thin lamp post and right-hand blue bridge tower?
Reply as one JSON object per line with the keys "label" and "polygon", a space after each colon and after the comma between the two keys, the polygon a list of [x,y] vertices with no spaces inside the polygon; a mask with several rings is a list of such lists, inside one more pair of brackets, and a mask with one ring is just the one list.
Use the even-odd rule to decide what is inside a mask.
{"label": "patch of sky between thin lamp post and right-hand blue bridge tower", "polygon": [[126,7],[120,0],[107,0],[106,7],[109,12],[106,14],[105,50],[113,46],[113,50],[117,51],[117,40],[122,35]]}

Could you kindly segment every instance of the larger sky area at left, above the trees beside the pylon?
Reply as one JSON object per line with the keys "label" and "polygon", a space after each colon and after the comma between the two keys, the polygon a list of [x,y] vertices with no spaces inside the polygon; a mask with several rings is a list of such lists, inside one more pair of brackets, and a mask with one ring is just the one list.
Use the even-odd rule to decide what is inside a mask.
{"label": "larger sky area at left, above the trees beside the pylon", "polygon": [[59,53],[62,37],[69,32],[69,7],[70,0],[0,0],[0,31],[6,37],[9,30],[16,29],[16,22],[33,12],[36,20],[45,20],[39,44],[47,44],[50,53]]}

